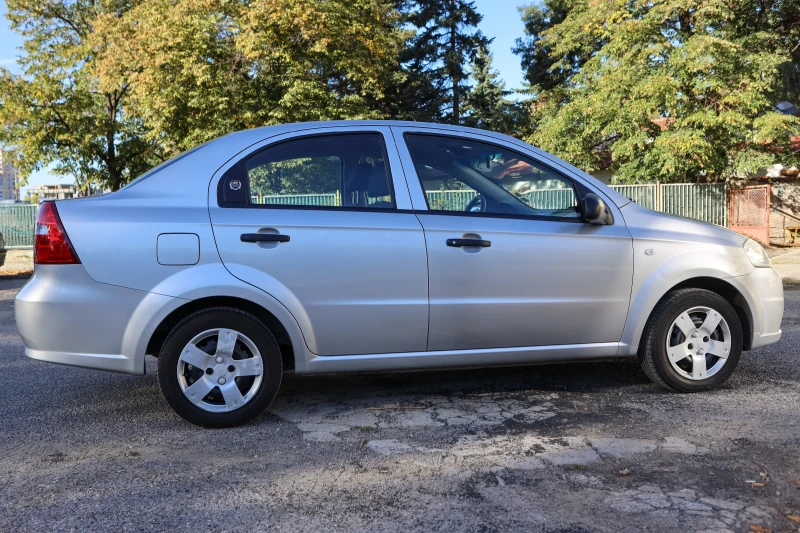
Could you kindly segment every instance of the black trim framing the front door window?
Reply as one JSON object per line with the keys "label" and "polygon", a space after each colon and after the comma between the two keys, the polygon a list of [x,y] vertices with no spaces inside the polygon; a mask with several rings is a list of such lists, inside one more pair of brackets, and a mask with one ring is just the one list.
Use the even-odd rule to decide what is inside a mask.
{"label": "black trim framing the front door window", "polygon": [[[466,141],[466,142],[473,142],[473,143],[481,143],[481,144],[488,144],[491,146],[497,146],[516,154],[519,157],[523,157],[525,159],[529,159],[536,163],[537,165],[541,165],[542,167],[548,169],[553,174],[558,176],[559,178],[563,179],[566,183],[568,183],[572,187],[572,193],[575,195],[575,199],[577,200],[577,207],[578,207],[578,216],[577,218],[566,218],[566,217],[557,217],[557,216],[550,216],[550,215],[525,215],[525,214],[517,214],[517,213],[484,213],[484,212],[471,212],[471,211],[443,211],[439,209],[431,209],[430,204],[428,202],[428,195],[425,194],[425,186],[422,184],[422,179],[419,177],[417,173],[417,165],[414,162],[414,156],[411,154],[411,150],[408,147],[408,136],[420,136],[420,137],[444,137],[447,139],[455,139],[459,141]],[[532,157],[528,154],[524,154],[519,150],[514,148],[508,148],[503,144],[498,144],[496,142],[491,141],[484,141],[482,139],[475,139],[472,137],[465,137],[463,135],[451,135],[447,133],[429,133],[427,131],[404,131],[403,132],[403,144],[405,144],[406,152],[408,152],[408,156],[411,160],[414,169],[414,175],[417,177],[417,183],[419,184],[420,189],[422,190],[422,196],[425,198],[425,211],[415,210],[417,214],[435,214],[437,216],[442,215],[450,215],[450,216],[468,216],[468,217],[476,217],[476,218],[508,218],[508,219],[517,219],[517,220],[542,220],[547,222],[570,222],[570,223],[580,223],[580,224],[587,224],[586,216],[583,211],[583,201],[578,194],[578,186],[576,181],[571,177],[565,175],[563,172],[553,168],[551,165],[543,163],[538,158]],[[444,172],[444,171],[443,171]],[[408,175],[406,175],[408,178]],[[502,186],[501,186],[502,187]],[[510,191],[508,191],[510,192]]]}

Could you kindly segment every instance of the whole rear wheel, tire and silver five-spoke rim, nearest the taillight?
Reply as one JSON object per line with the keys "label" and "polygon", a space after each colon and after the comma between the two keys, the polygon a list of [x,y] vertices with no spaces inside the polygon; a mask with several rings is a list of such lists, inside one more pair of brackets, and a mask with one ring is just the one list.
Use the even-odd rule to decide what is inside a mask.
{"label": "whole rear wheel, tire and silver five-spoke rim, nearest the taillight", "polygon": [[173,328],[161,348],[158,381],[181,417],[220,428],[261,414],[278,392],[282,371],[278,343],[261,321],[217,307]]}

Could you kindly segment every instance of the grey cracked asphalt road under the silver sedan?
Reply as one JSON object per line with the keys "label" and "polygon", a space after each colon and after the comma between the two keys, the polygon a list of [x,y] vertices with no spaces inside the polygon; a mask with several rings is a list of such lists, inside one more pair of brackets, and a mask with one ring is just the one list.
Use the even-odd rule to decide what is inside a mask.
{"label": "grey cracked asphalt road under the silver sedan", "polygon": [[784,339],[712,393],[628,363],[287,375],[255,422],[202,430],[155,360],[132,377],[26,359],[21,283],[0,282],[3,532],[800,527],[800,290]]}

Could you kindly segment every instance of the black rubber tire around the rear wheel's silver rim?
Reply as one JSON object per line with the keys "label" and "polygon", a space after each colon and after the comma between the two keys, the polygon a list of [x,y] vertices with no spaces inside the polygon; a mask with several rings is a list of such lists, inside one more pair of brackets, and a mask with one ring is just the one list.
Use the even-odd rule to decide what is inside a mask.
{"label": "black rubber tire around the rear wheel's silver rim", "polygon": [[[216,328],[233,329],[249,337],[263,362],[261,385],[252,398],[238,409],[219,413],[193,404],[178,381],[178,362],[183,349],[195,336]],[[263,413],[278,393],[282,373],[280,348],[269,329],[253,315],[232,307],[203,309],[183,319],[167,336],[158,360],[158,382],[167,403],[185,420],[207,428],[239,426]]]}

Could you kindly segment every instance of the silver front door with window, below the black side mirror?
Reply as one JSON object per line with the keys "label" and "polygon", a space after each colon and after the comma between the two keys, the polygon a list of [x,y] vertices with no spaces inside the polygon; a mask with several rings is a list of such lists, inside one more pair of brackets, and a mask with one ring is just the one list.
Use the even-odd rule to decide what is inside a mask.
{"label": "silver front door with window, below the black side mirror", "polygon": [[586,223],[586,186],[514,145],[417,128],[395,138],[421,188],[428,350],[619,342],[633,274],[621,217]]}

